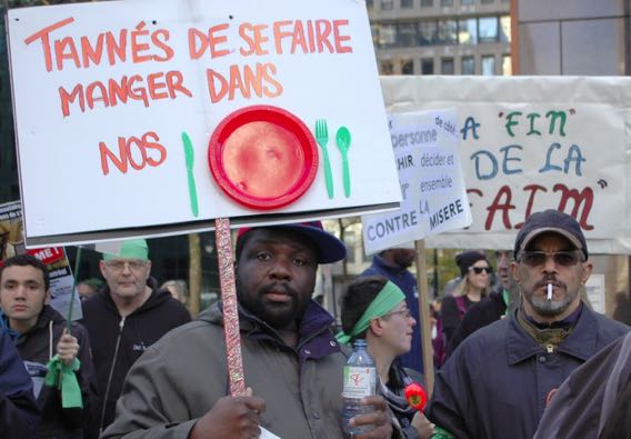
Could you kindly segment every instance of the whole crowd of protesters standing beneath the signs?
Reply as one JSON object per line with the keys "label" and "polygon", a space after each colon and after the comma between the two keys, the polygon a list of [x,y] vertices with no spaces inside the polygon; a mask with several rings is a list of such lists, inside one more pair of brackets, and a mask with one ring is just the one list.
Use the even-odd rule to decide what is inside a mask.
{"label": "whole crowd of protesters standing beneath the signs", "polygon": [[435,313],[445,356],[421,411],[405,398],[409,382],[424,381],[414,251],[374,257],[344,291],[335,338],[312,295],[319,265],[343,258],[319,221],[239,231],[241,396],[230,396],[222,302],[191,322],[186,286],[159,287],[146,241],[103,256],[104,282],[86,288],[71,325],[48,305],[47,267],[7,259],[2,437],[342,438],[347,343],[364,338],[378,395],[351,423],[371,428],[368,438],[631,438],[630,328],[581,298],[592,265],[572,217],[532,213],[514,249],[497,253],[495,285],[485,252],[458,255],[460,279]]}

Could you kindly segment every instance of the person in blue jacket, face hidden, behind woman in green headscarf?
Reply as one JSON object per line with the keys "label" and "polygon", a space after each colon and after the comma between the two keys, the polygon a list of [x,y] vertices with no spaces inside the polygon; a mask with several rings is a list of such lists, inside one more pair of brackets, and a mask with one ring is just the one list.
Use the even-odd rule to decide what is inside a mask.
{"label": "person in blue jacket, face hidden, behind woman in green headscarf", "polygon": [[[371,266],[360,276],[383,276],[393,282],[405,295],[408,309],[414,320],[420,321],[419,289],[417,288],[417,279],[414,279],[414,276],[409,270],[415,259],[417,252],[414,249],[393,248],[383,250],[372,258]],[[412,349],[402,355],[398,361],[405,368],[413,369],[419,373],[423,372],[420,325],[414,327]]]}

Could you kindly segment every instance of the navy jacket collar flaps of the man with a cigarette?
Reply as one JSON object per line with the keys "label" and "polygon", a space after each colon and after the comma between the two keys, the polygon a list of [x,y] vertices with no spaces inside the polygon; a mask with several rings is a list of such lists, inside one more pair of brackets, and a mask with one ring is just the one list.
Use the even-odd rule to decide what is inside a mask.
{"label": "navy jacket collar flaps of the man with a cigarette", "polygon": [[[595,316],[588,307],[583,306],[582,308],[574,328],[559,345],[558,352],[585,361],[597,351],[598,322]],[[509,329],[505,339],[508,361],[511,366],[542,352],[541,347],[520,328],[517,321],[517,312],[512,312],[509,317]]]}

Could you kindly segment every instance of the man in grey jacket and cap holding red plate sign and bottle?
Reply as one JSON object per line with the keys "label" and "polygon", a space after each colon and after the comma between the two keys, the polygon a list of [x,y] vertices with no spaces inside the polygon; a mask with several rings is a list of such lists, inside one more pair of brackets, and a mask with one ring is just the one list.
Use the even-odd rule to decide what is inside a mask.
{"label": "man in grey jacket and cap holding red plate sign and bottle", "polygon": [[[342,438],[342,353],[311,300],[318,263],[345,257],[320,222],[242,229],[236,282],[248,395],[230,397],[221,303],[147,349],[101,438]],[[390,438],[382,397],[364,399],[367,438]],[[268,432],[266,432],[264,430]]]}

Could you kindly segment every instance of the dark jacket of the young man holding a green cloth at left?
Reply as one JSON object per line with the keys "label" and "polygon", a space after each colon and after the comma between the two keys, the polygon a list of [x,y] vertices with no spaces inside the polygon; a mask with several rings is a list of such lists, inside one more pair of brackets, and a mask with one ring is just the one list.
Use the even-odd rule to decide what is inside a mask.
{"label": "dark jacket of the young man holding a green cloth at left", "polygon": [[[67,327],[66,319],[44,306],[33,328],[16,340],[20,357],[34,382],[42,382],[46,363],[57,353],[57,343]],[[36,386],[38,408],[41,412],[39,435],[41,438],[96,438],[96,418],[92,412],[98,403],[97,376],[90,355],[88,331],[78,322],[72,322],[70,332],[79,341],[77,358],[81,368],[77,379],[83,397],[83,409],[63,409],[59,389]],[[52,345],[50,343],[52,336]]]}

